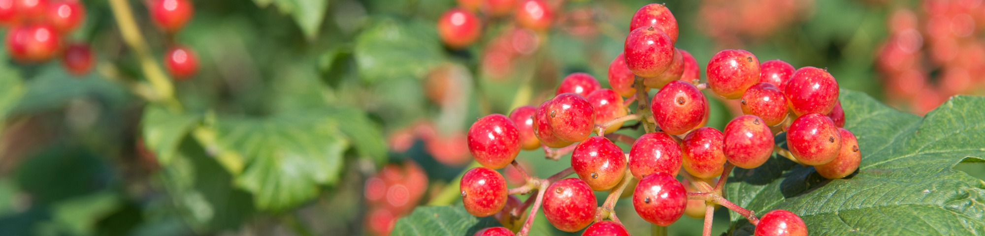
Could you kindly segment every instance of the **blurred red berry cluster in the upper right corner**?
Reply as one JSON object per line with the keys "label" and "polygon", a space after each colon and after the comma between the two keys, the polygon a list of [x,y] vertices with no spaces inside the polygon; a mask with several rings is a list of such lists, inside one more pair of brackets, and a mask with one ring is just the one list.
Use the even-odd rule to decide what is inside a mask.
{"label": "blurred red berry cluster in the upper right corner", "polygon": [[985,91],[985,4],[926,0],[922,6],[889,15],[876,63],[888,103],[917,114],[954,94]]}

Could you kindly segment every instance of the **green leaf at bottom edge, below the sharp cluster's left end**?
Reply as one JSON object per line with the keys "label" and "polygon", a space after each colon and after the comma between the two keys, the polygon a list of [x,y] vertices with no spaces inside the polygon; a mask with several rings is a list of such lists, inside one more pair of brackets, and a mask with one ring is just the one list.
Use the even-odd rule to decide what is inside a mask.
{"label": "green leaf at bottom edge, below the sharp cluster's left end", "polygon": [[476,217],[462,206],[417,207],[397,220],[391,235],[473,235],[487,227],[502,226],[491,217]]}

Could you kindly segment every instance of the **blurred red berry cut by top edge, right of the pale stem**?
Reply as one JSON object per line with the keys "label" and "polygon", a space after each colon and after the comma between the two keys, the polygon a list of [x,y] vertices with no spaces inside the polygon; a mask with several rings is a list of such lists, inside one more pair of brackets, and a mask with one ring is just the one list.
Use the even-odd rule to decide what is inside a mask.
{"label": "blurred red berry cut by top edge, right of the pale stem", "polygon": [[183,28],[195,13],[195,7],[188,0],[151,0],[148,4],[154,24],[166,32]]}

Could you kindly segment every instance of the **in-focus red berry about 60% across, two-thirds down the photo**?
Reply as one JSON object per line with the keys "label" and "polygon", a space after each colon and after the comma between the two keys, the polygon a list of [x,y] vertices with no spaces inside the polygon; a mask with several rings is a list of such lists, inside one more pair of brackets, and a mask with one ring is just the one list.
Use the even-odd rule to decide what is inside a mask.
{"label": "in-focus red berry about 60% across, two-thirds down the photo", "polygon": [[588,137],[571,152],[571,168],[594,191],[610,190],[625,174],[625,155],[612,141]]}

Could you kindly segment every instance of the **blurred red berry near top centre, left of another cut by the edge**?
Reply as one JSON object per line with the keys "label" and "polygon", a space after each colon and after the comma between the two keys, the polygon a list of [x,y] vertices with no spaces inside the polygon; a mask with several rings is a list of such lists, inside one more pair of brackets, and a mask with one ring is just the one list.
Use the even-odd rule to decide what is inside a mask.
{"label": "blurred red berry near top centre, left of another cut by the edge", "polygon": [[437,32],[450,48],[465,48],[479,39],[482,33],[482,22],[475,14],[461,8],[452,8],[444,12],[437,20]]}

